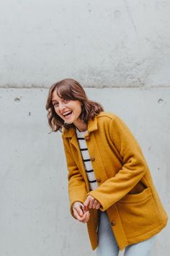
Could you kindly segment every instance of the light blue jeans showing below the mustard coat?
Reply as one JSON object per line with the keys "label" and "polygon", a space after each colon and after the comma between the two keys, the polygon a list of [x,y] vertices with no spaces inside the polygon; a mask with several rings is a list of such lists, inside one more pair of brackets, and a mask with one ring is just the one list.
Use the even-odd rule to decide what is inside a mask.
{"label": "light blue jeans showing below the mustard coat", "polygon": [[[97,256],[117,256],[120,249],[117,245],[115,236],[112,232],[111,225],[107,213],[101,212],[99,223],[99,244],[97,247]],[[156,236],[146,239],[138,244],[130,244],[125,247],[124,256],[151,256],[151,249],[153,247]]]}

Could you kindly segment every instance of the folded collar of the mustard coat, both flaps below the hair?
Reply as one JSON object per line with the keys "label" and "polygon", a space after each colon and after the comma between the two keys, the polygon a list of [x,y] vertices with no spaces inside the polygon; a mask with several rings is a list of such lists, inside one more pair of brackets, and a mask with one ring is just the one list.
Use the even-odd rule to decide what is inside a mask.
{"label": "folded collar of the mustard coat, both flaps below the hair", "polygon": [[[94,117],[94,119],[90,119],[87,124],[87,135],[89,135],[90,132],[94,132],[97,130],[97,116]],[[71,127],[70,129],[63,129],[63,137],[73,137],[75,135],[75,128]]]}

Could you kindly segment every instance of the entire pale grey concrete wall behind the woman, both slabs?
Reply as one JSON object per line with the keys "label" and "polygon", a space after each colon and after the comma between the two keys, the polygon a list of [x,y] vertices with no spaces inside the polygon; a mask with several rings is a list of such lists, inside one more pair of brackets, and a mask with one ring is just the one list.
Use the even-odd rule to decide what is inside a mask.
{"label": "entire pale grey concrete wall behind the woman, both slabs", "polygon": [[169,11],[168,0],[0,1],[1,256],[95,255],[68,210],[61,134],[48,134],[48,88],[65,77],[128,124],[170,213]]}

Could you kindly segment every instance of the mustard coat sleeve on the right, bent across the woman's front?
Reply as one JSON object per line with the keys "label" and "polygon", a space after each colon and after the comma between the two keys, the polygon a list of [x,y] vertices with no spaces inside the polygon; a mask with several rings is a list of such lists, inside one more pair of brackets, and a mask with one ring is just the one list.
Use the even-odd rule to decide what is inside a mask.
{"label": "mustard coat sleeve on the right, bent across the woman's front", "polygon": [[138,142],[118,116],[110,121],[109,136],[122,157],[122,168],[115,176],[88,193],[100,202],[103,211],[127,195],[148,169]]}

